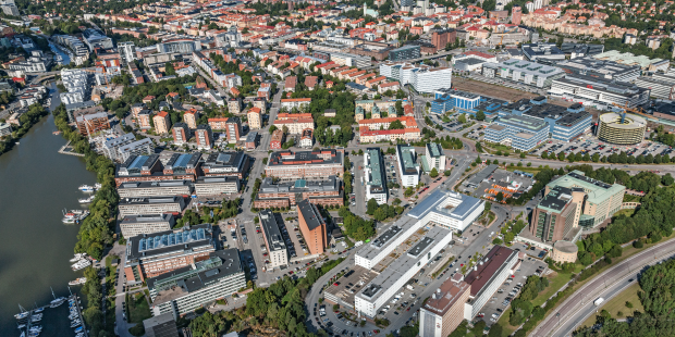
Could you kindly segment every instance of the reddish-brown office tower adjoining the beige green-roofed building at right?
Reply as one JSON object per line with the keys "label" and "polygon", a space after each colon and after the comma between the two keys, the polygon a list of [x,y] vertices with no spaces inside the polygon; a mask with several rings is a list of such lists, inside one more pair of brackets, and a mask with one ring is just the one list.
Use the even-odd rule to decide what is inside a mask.
{"label": "reddish-brown office tower adjoining the beige green-roofed building at right", "polygon": [[532,211],[530,235],[542,242],[576,241],[585,197],[579,187],[553,187]]}

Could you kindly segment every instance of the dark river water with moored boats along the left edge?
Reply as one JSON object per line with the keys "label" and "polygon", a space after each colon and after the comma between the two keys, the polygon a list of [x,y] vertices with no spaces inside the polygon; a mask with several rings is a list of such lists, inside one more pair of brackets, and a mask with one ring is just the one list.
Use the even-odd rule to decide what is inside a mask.
{"label": "dark river water with moored boats along the left edge", "polygon": [[[52,103],[59,103],[58,95]],[[79,226],[61,223],[61,211],[83,208],[77,198],[85,195],[77,187],[96,183],[96,174],[85,170],[82,158],[57,153],[65,140],[54,130],[50,114],[33,126],[21,145],[0,155],[0,336],[19,336],[17,304],[28,309],[49,303],[50,286],[57,297],[65,297],[68,282],[82,276],[69,262]],[[40,336],[72,335],[68,322],[64,332],[48,330],[50,320],[68,317],[45,314]],[[62,325],[54,322],[53,326]]]}

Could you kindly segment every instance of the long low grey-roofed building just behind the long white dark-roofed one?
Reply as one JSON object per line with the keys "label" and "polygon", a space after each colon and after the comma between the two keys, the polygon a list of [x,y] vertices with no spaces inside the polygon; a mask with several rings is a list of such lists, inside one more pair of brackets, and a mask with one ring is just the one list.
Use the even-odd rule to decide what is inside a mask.
{"label": "long low grey-roofed building just behind the long white dark-roofed one", "polygon": [[[594,46],[603,47],[602,45]],[[570,75],[586,75],[616,82],[634,82],[642,72],[637,65],[625,65],[613,61],[600,61],[591,57],[559,62],[555,66]]]}

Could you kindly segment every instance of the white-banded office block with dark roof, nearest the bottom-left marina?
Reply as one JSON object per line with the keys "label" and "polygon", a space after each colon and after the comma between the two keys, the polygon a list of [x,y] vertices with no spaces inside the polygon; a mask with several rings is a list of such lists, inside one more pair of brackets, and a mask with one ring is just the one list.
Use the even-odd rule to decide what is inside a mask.
{"label": "white-banded office block with dark roof, nearest the bottom-left marina", "polygon": [[148,279],[154,316],[174,319],[223,299],[246,287],[246,275],[236,249],[212,252],[207,260]]}

